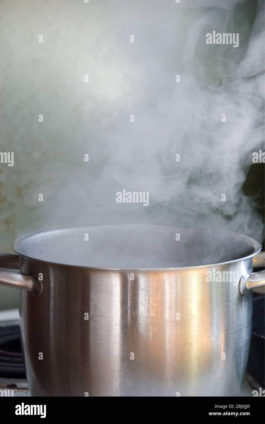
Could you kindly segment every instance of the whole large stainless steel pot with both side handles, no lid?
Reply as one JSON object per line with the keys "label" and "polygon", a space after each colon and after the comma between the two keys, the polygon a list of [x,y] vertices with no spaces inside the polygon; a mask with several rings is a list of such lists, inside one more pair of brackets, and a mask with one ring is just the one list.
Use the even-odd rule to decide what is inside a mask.
{"label": "whole large stainless steel pot with both side handles, no lid", "polygon": [[[236,396],[260,244],[185,226],[88,226],[17,239],[0,284],[20,288],[33,396]],[[211,265],[210,265],[211,264]],[[221,274],[220,274],[221,273]],[[221,281],[220,281],[221,275]],[[212,280],[212,282],[211,282]]]}

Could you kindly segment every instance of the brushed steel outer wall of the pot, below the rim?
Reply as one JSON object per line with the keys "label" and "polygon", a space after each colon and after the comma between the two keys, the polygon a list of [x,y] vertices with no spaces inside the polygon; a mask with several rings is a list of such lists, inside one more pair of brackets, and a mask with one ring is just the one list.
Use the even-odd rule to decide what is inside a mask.
{"label": "brushed steel outer wall of the pot, below the rim", "polygon": [[33,396],[239,394],[252,293],[241,296],[238,281],[207,275],[240,278],[252,272],[252,258],[166,271],[19,261],[22,273],[43,274],[41,296],[21,290],[20,298]]}

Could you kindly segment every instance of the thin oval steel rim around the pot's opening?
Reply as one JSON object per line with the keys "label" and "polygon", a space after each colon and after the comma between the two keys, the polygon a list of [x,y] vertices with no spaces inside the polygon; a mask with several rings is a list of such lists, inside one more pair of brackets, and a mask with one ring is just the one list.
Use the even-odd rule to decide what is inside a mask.
{"label": "thin oval steel rim around the pot's opening", "polygon": [[136,271],[181,271],[181,270],[191,270],[191,269],[200,269],[200,268],[212,268],[212,267],[218,267],[221,265],[228,265],[228,264],[232,264],[234,262],[240,262],[243,261],[245,259],[250,259],[252,257],[254,257],[255,255],[257,255],[261,249],[262,249],[262,245],[255,239],[246,236],[245,234],[241,234],[241,233],[237,233],[237,232],[233,232],[233,231],[229,231],[229,230],[224,230],[224,229],[215,229],[221,232],[224,232],[226,234],[233,234],[233,235],[237,235],[242,237],[242,239],[245,239],[246,241],[248,241],[249,243],[251,243],[254,246],[254,252],[252,252],[249,255],[246,255],[244,257],[240,257],[238,259],[232,259],[231,261],[226,261],[226,262],[216,262],[213,264],[209,264],[209,265],[192,265],[192,266],[186,266],[186,267],[168,267],[168,268],[109,268],[109,267],[93,267],[93,266],[84,266],[84,265],[71,265],[71,264],[64,264],[61,262],[52,262],[52,261],[46,261],[44,259],[37,259],[25,254],[22,254],[19,251],[18,243],[22,242],[25,238],[27,237],[32,237],[36,234],[41,234],[41,233],[48,233],[48,232],[55,232],[55,231],[63,231],[63,230],[73,230],[73,229],[80,229],[80,228],[88,228],[88,227],[104,227],[104,226],[165,226],[165,227],[169,227],[169,226],[178,226],[178,227],[188,227],[188,228],[196,228],[196,229],[206,229],[206,230],[213,230],[213,228],[210,227],[202,227],[202,226],[192,226],[192,225],[185,225],[185,224],[157,224],[157,223],[152,223],[152,224],[89,224],[89,225],[78,225],[78,226],[72,226],[72,227],[59,227],[59,228],[55,228],[55,229],[48,229],[48,230],[39,230],[39,231],[33,231],[30,232],[28,234],[24,234],[20,237],[17,237],[12,243],[11,243],[11,247],[13,249],[13,251],[15,253],[17,253],[19,256],[37,261],[37,262],[43,262],[46,264],[50,264],[50,265],[57,265],[57,266],[61,266],[61,267],[75,267],[75,268],[83,268],[83,269],[89,269],[89,270],[95,270],[95,271],[128,271],[128,270],[136,270]]}

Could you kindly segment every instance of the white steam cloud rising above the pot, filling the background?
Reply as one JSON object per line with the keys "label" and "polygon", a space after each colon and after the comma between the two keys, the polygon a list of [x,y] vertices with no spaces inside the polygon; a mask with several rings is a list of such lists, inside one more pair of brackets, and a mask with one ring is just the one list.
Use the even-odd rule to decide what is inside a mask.
{"label": "white steam cloud rising above the pot, filling the background", "polygon": [[[261,218],[242,190],[264,134],[262,2],[56,0],[28,2],[19,19],[3,3],[18,26],[7,40],[26,31],[30,46],[18,37],[22,80],[6,94],[13,107],[25,105],[10,136],[29,231],[182,223],[262,241]],[[239,33],[239,46],[207,45],[213,30]],[[11,62],[11,75],[16,69]],[[19,164],[21,138],[28,162]],[[149,192],[149,206],[117,204],[122,190]]]}

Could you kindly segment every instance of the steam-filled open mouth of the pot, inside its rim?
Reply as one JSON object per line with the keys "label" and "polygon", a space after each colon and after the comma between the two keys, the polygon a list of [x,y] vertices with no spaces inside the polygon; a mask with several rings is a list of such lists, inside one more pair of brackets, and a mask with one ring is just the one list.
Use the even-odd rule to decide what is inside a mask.
{"label": "steam-filled open mouth of the pot, inside its rim", "polygon": [[253,254],[259,243],[241,234],[188,226],[103,225],[29,234],[13,248],[67,265],[175,268],[240,259]]}

